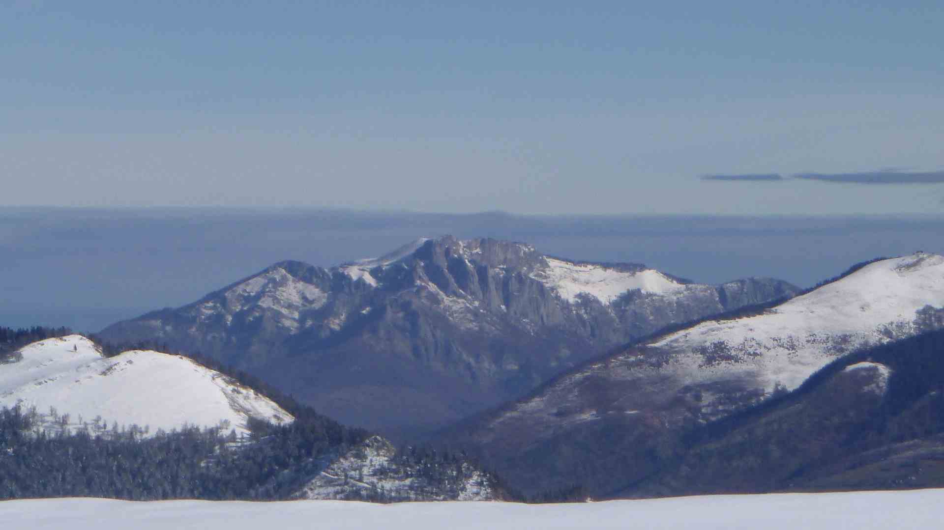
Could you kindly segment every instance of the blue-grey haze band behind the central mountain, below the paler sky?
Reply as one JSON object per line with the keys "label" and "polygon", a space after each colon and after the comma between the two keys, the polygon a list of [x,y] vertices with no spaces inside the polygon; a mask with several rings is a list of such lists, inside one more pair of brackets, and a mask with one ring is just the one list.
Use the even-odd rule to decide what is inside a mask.
{"label": "blue-grey haze band behind the central mountain, below the paler sky", "polygon": [[853,263],[944,252],[944,217],[515,216],[192,208],[0,211],[0,325],[98,331],[181,306],[283,259],[331,266],[418,237],[526,241],[551,256],[642,262],[704,283],[810,286]]}

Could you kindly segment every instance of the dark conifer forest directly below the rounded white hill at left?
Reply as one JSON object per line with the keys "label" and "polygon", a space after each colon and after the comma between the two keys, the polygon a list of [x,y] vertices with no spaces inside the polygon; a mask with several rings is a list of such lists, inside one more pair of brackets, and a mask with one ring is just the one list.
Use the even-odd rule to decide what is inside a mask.
{"label": "dark conifer forest directly below the rounded white hill at left", "polygon": [[253,422],[250,439],[185,427],[142,438],[135,430],[46,435],[35,413],[0,411],[0,499],[94,496],[128,500],[271,500],[265,488],[302,461],[366,436],[318,415],[284,426]]}

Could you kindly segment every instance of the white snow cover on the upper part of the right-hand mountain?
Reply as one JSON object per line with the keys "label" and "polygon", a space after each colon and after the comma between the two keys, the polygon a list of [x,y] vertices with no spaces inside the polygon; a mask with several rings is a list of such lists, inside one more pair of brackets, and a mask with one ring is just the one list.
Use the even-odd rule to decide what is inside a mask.
{"label": "white snow cover on the upper part of the right-hand mountain", "polygon": [[[750,372],[767,391],[796,389],[837,356],[915,335],[926,306],[944,306],[944,257],[918,253],[871,263],[767,314],[700,323],[648,345],[684,352],[675,362],[692,382]],[[706,362],[712,350],[726,360]]]}

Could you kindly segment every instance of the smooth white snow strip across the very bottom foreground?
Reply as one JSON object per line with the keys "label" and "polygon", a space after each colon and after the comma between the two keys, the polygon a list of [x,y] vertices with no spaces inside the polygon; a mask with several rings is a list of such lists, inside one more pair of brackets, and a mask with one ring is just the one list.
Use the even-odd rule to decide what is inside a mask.
{"label": "smooth white snow strip across the very bottom foreground", "polygon": [[133,503],[35,499],[0,503],[5,529],[697,528],[835,530],[938,528],[944,489],[715,495],[571,505],[340,501]]}

